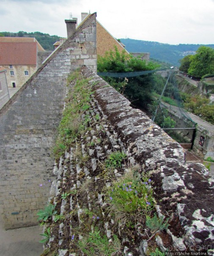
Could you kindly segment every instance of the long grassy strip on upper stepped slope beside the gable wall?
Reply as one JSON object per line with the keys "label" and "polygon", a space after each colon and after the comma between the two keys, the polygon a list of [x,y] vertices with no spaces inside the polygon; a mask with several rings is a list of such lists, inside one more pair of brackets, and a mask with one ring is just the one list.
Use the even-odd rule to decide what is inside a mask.
{"label": "long grassy strip on upper stepped slope beside the gable wall", "polygon": [[85,79],[77,70],[69,75],[67,80],[68,94],[66,97],[66,107],[63,117],[58,127],[58,137],[56,139],[53,154],[56,160],[65,153],[71,143],[84,131],[88,123],[88,116],[81,116],[89,109],[88,102],[92,94],[91,87],[88,86],[88,79]]}

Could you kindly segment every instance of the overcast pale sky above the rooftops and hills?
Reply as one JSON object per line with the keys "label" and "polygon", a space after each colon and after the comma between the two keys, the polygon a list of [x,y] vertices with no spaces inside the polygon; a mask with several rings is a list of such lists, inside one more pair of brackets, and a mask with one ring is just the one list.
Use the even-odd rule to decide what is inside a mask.
{"label": "overcast pale sky above the rooftops and hills", "polygon": [[89,11],[117,39],[214,44],[214,0],[0,0],[0,32],[66,37],[69,13]]}

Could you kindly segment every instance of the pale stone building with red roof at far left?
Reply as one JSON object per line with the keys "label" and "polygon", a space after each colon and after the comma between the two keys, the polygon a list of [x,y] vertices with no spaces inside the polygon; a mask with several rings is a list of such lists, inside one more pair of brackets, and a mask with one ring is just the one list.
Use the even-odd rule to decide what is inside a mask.
{"label": "pale stone building with red roof at far left", "polygon": [[35,38],[0,37],[0,66],[7,70],[9,88],[21,87],[38,69],[40,52],[45,50]]}

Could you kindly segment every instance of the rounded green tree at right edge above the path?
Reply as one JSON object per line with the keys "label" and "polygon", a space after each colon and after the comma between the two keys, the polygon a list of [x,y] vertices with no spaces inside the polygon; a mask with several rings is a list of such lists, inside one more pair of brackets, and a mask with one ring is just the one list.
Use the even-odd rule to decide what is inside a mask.
{"label": "rounded green tree at right edge above the path", "polygon": [[201,46],[192,56],[191,63],[188,69],[188,74],[201,78],[206,74],[214,73],[214,49],[206,46]]}

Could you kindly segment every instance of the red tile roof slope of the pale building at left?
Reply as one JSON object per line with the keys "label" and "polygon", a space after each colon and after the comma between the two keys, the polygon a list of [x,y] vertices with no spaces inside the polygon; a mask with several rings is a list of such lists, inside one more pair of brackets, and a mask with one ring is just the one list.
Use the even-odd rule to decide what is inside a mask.
{"label": "red tile roof slope of the pale building at left", "polygon": [[0,42],[0,65],[36,65],[36,42]]}

